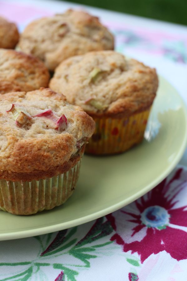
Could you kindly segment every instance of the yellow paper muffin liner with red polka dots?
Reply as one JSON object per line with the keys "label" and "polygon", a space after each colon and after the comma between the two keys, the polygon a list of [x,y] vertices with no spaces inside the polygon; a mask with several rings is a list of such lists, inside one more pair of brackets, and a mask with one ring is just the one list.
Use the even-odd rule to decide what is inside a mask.
{"label": "yellow paper muffin liner with red polka dots", "polygon": [[95,155],[121,153],[143,140],[150,109],[121,119],[93,117],[96,129],[85,152]]}

